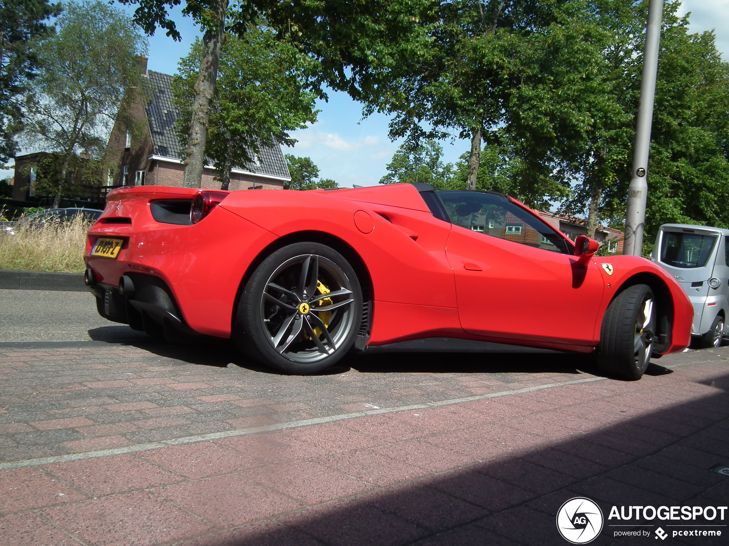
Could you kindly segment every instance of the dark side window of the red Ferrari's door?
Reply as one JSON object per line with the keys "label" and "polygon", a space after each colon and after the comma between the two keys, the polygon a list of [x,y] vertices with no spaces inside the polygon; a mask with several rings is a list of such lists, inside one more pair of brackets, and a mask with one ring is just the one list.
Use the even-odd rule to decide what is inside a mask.
{"label": "dark side window of the red Ferrari's door", "polygon": [[437,191],[451,222],[477,233],[542,250],[572,254],[552,226],[499,194],[483,191]]}

